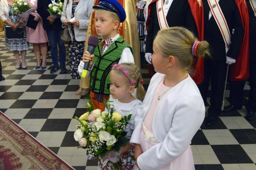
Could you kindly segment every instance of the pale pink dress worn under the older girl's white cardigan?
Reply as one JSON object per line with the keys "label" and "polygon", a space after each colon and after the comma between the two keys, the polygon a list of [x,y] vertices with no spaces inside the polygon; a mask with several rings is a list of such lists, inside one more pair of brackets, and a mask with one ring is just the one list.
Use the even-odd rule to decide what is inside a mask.
{"label": "pale pink dress worn under the older girl's white cardigan", "polygon": [[[143,131],[141,131],[140,136],[141,148],[143,152],[146,152],[149,148],[157,144],[157,141],[154,139],[154,135],[152,132],[152,120],[154,112],[159,105],[161,99],[163,99],[163,96],[166,94],[167,90],[170,89],[170,87],[167,87],[163,84],[163,80],[156,89],[150,109],[148,110],[148,113],[143,121]],[[160,100],[158,100],[158,95],[160,95]],[[149,137],[146,139],[145,134],[151,136],[151,142],[146,141]],[[134,168],[134,170],[136,168]],[[178,157],[174,161],[171,161],[168,165],[161,167],[159,170],[195,170],[191,147],[189,146],[180,157]]]}

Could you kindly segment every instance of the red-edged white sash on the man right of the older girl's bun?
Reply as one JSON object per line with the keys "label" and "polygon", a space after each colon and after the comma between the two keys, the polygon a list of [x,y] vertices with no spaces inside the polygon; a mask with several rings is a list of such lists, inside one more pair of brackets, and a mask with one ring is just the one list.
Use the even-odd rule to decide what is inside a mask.
{"label": "red-edged white sash on the man right of the older girl's bun", "polygon": [[221,11],[221,7],[217,0],[208,0],[208,4],[211,9],[211,14],[214,16],[216,23],[221,31],[223,36],[223,40],[225,42],[226,53],[228,52],[228,45],[230,44],[230,31],[228,29],[228,24],[226,23],[226,19]]}

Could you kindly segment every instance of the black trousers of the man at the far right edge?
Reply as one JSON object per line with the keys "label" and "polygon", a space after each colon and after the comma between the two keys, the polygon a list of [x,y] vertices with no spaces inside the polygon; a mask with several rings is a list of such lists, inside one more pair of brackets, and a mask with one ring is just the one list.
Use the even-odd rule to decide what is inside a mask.
{"label": "black trousers of the man at the far right edge", "polygon": [[[256,61],[249,61],[249,99],[245,104],[245,108],[248,112],[256,112]],[[243,87],[245,81],[231,81],[230,82],[230,103],[236,107],[236,109],[242,108],[243,102]]]}

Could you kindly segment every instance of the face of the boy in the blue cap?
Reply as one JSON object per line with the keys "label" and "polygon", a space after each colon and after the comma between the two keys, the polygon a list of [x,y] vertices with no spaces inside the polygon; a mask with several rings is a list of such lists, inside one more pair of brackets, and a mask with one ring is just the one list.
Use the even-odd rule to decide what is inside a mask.
{"label": "face of the boy in the blue cap", "polygon": [[109,14],[95,11],[95,29],[98,36],[103,36],[105,39],[115,37],[117,26]]}

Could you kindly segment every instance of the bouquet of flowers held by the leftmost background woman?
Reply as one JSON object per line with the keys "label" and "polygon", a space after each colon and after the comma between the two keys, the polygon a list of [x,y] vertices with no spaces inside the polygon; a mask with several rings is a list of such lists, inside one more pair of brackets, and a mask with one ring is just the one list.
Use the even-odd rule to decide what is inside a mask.
{"label": "bouquet of flowers held by the leftmost background woman", "polygon": [[13,14],[24,18],[24,20],[28,20],[28,16],[32,9],[27,0],[16,0],[11,6],[13,7]]}

